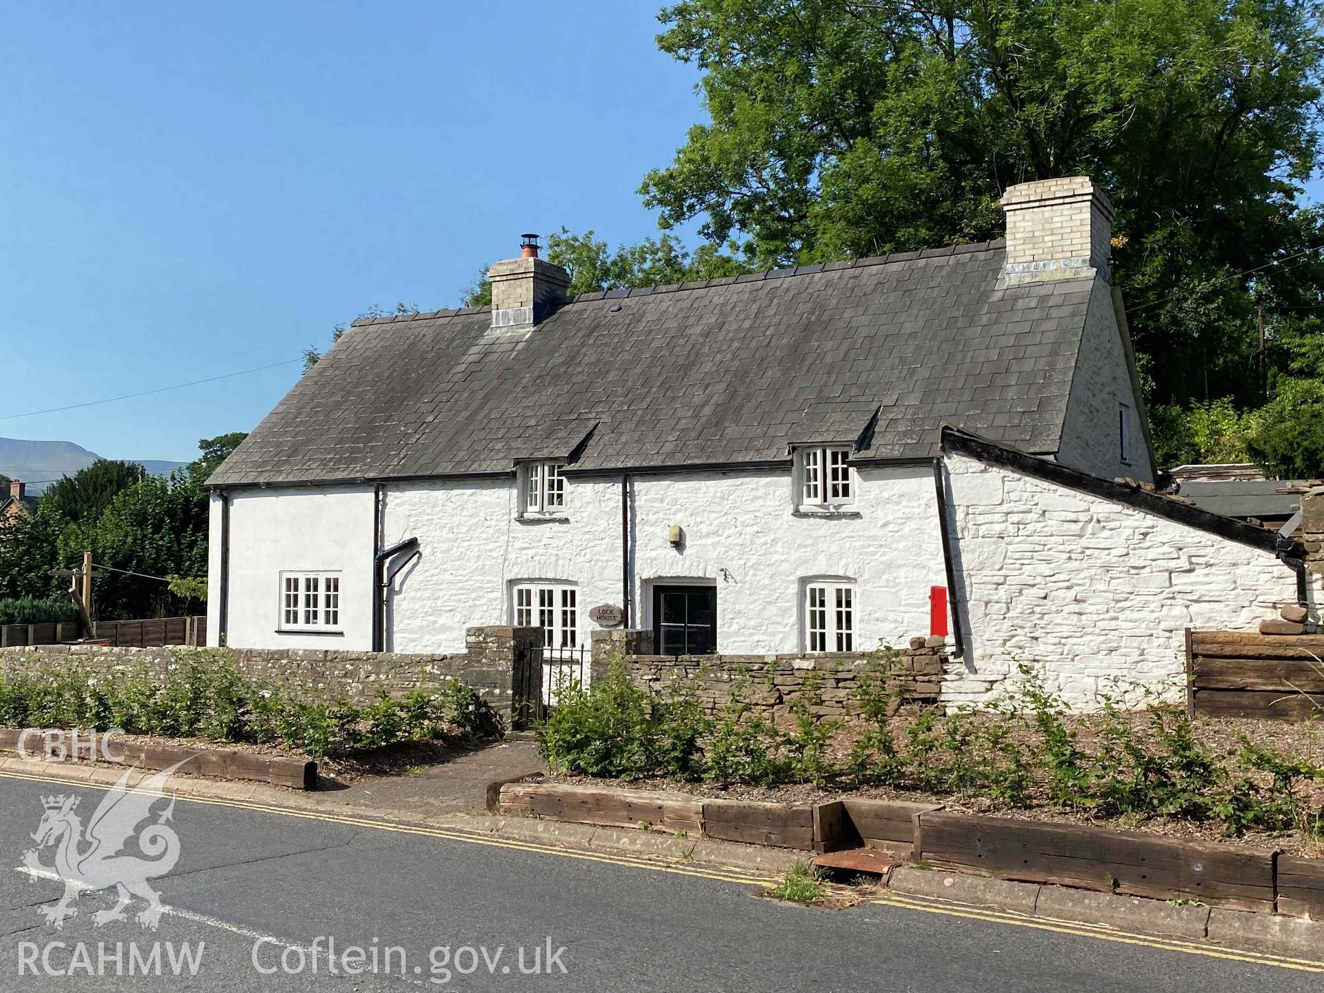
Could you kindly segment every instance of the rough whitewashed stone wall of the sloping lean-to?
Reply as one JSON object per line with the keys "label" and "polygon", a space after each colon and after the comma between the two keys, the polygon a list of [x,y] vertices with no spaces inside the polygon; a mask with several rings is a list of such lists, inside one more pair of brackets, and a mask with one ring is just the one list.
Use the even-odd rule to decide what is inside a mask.
{"label": "rough whitewashed stone wall of the sloping lean-to", "polygon": [[969,633],[943,687],[952,706],[998,698],[1022,662],[1080,710],[1119,683],[1180,699],[1186,628],[1254,630],[1296,601],[1295,573],[1271,552],[964,455],[945,462]]}

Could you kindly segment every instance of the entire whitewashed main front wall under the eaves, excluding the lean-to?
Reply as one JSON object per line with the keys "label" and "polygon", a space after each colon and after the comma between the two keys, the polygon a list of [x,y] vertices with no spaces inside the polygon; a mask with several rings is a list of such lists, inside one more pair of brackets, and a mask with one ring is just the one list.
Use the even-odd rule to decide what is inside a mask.
{"label": "entire whitewashed main front wall under the eaves, excluding the lean-to", "polygon": [[[629,499],[632,622],[651,626],[655,584],[711,584],[724,653],[800,651],[806,579],[855,581],[861,650],[927,634],[929,588],[945,585],[928,467],[861,470],[858,518],[794,516],[789,470],[638,475]],[[241,490],[232,500],[229,643],[369,647],[371,487]],[[514,621],[512,589],[526,580],[577,587],[587,646],[589,608],[622,601],[620,478],[571,479],[564,516],[519,520],[504,479],[385,487],[383,547],[417,538],[421,549],[392,585],[385,647],[459,651],[466,628]],[[681,548],[667,542],[671,524],[683,528]],[[218,536],[218,499],[212,527]],[[220,542],[212,548],[218,589]],[[342,572],[343,634],[277,632],[282,569]]]}

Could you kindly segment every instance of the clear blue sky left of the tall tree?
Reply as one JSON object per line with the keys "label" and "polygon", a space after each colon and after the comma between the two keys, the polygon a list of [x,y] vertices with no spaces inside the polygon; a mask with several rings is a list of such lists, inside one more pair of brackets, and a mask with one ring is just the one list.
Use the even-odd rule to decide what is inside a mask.
{"label": "clear blue sky left of the tall tree", "polygon": [[188,459],[376,303],[454,306],[519,234],[655,233],[700,119],[658,0],[0,12],[0,436]]}

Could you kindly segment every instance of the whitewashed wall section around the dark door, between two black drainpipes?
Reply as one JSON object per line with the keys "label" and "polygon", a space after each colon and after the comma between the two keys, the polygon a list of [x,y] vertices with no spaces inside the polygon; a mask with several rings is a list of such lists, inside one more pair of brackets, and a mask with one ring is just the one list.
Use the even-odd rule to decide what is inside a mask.
{"label": "whitewashed wall section around the dark door, between two black drainpipes", "polygon": [[[690,579],[718,587],[718,650],[802,650],[802,581],[855,581],[858,647],[928,634],[929,587],[947,585],[933,471],[858,474],[857,519],[790,514],[790,473],[692,474],[634,479],[633,572],[643,628],[653,587]],[[678,551],[667,526],[685,530]],[[620,518],[617,518],[620,528]]]}

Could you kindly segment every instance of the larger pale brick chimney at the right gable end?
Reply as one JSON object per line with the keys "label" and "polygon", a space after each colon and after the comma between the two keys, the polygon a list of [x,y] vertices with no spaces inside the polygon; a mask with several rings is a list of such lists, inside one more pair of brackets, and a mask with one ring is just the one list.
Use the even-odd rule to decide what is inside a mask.
{"label": "larger pale brick chimney at the right gable end", "polygon": [[1009,187],[1004,285],[1078,279],[1112,282],[1112,204],[1088,176],[1041,179]]}

